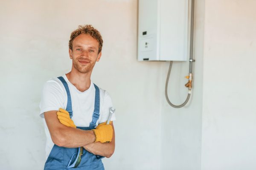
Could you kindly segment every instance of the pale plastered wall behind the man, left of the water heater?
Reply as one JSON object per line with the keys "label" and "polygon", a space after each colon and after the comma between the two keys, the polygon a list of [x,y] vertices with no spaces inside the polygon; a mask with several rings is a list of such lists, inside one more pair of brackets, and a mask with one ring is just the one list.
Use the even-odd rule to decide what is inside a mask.
{"label": "pale plastered wall behind the man, left of the water heater", "polygon": [[68,40],[81,24],[102,33],[92,80],[110,92],[117,111],[116,151],[104,159],[106,169],[158,169],[160,65],[137,62],[137,0],[8,0],[0,23],[0,169],[43,169],[41,89],[70,71]]}

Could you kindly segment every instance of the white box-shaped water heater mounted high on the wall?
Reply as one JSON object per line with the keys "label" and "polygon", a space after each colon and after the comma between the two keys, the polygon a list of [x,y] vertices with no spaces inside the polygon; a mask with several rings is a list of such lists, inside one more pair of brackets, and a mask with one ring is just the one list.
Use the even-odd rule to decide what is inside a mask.
{"label": "white box-shaped water heater mounted high on the wall", "polygon": [[189,0],[139,0],[138,60],[187,61]]}

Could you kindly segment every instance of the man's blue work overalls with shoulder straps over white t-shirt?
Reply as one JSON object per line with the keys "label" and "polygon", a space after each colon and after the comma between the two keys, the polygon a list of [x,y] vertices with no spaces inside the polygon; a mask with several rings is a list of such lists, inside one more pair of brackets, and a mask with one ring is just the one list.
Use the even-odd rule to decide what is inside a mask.
{"label": "man's blue work overalls with shoulder straps over white t-shirt", "polygon": [[[67,82],[64,80],[63,77],[58,77],[63,83],[66,92],[67,92],[67,108],[66,110],[70,113],[70,119],[73,116],[72,111],[72,103],[71,103],[71,96],[70,91],[67,85]],[[94,111],[93,111],[93,120],[90,122],[89,127],[76,127],[82,130],[92,130],[96,127],[96,122],[99,119],[99,88],[94,84],[96,89],[95,91],[95,103],[94,103]],[[81,155],[81,162],[76,168],[68,167],[68,165],[72,164],[75,161],[76,156],[78,155],[75,153],[79,152],[79,148],[67,148],[67,147],[59,147],[56,144],[52,147],[52,150],[48,156],[47,161],[44,165],[44,170],[104,170],[104,166],[102,164],[103,156],[97,156],[93,153],[88,152],[83,148],[83,155]],[[72,158],[72,160],[71,160]]]}

